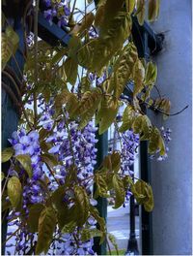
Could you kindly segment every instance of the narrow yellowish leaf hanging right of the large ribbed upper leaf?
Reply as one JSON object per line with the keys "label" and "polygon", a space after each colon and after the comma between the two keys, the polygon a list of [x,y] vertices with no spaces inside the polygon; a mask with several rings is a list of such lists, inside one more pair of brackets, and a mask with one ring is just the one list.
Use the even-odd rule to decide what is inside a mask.
{"label": "narrow yellowish leaf hanging right of the large ribbed upper leaf", "polygon": [[137,95],[143,90],[144,78],[145,78],[145,68],[142,62],[138,59],[135,62],[134,70],[133,70],[133,79],[134,79],[133,96]]}

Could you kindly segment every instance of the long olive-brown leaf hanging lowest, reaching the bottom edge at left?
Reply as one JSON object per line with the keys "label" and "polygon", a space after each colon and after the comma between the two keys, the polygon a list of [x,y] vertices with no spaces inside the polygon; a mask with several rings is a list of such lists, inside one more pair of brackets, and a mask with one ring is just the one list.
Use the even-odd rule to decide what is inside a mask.
{"label": "long olive-brown leaf hanging lowest, reaching the bottom edge at left", "polygon": [[53,208],[44,208],[39,218],[39,236],[36,246],[36,254],[46,254],[51,244],[56,227],[56,215]]}

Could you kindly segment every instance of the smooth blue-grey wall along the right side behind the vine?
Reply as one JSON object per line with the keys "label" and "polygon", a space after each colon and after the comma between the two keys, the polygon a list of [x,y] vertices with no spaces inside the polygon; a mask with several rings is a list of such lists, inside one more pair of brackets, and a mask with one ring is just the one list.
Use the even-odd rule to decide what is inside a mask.
{"label": "smooth blue-grey wall along the right side behind the vine", "polygon": [[153,255],[192,254],[192,80],[191,1],[163,0],[160,16],[152,25],[164,32],[163,50],[154,58],[157,86],[172,102],[171,112],[189,108],[164,124],[152,114],[152,122],[172,129],[169,157],[152,161]]}

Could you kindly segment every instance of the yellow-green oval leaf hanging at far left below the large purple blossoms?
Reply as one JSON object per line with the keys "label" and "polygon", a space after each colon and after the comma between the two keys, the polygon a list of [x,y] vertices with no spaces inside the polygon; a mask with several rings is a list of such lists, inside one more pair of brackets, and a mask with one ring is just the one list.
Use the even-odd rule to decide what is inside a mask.
{"label": "yellow-green oval leaf hanging at far left below the large purple blossoms", "polygon": [[13,208],[16,208],[21,200],[21,183],[18,177],[12,176],[8,181],[8,196]]}

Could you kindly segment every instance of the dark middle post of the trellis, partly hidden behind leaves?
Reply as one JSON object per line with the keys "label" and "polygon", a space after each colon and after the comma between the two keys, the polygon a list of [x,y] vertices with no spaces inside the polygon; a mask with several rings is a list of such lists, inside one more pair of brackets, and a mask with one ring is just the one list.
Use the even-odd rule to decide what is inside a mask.
{"label": "dark middle post of the trellis, partly hidden behind leaves", "polygon": [[[103,158],[108,153],[108,131],[103,133],[102,135],[96,135],[96,139],[98,140],[96,144],[97,148],[97,155],[96,155],[96,169],[102,163]],[[94,190],[96,187],[94,187]],[[106,198],[97,198],[97,210],[99,211],[99,215],[104,218],[106,222],[107,217],[107,200]],[[102,244],[99,244],[99,238],[94,239],[94,250],[96,251],[97,255],[106,255],[106,241]]]}

